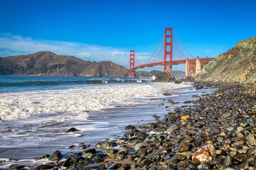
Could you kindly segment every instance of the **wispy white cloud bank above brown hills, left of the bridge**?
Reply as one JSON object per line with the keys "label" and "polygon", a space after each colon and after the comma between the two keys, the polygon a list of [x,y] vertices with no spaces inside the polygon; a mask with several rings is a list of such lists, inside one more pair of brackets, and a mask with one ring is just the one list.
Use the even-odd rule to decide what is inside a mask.
{"label": "wispy white cloud bank above brown hills, left of the bridge", "polygon": [[126,67],[129,50],[57,40],[37,40],[31,37],[0,33],[0,56],[27,55],[52,51],[58,55],[73,55],[83,60],[112,61]]}

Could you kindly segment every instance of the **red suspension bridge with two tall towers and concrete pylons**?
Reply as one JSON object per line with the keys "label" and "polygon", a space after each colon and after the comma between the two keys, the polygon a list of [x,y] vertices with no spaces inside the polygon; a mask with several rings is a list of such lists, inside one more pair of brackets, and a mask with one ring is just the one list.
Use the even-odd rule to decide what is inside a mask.
{"label": "red suspension bridge with two tall towers and concrete pylons", "polygon": [[127,69],[129,69],[129,77],[134,77],[136,69],[163,65],[163,71],[172,75],[172,65],[186,63],[186,76],[194,77],[213,59],[209,57],[194,58],[183,46],[173,28],[165,28],[154,53],[146,63],[142,64],[135,51],[130,51]]}

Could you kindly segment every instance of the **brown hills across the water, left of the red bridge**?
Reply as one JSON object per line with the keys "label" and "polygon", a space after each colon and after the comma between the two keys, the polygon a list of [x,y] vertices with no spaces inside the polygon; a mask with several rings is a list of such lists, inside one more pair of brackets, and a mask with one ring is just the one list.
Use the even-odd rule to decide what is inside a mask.
{"label": "brown hills across the water, left of the red bridge", "polygon": [[96,63],[43,51],[29,55],[0,57],[0,74],[126,77],[128,70],[112,62]]}

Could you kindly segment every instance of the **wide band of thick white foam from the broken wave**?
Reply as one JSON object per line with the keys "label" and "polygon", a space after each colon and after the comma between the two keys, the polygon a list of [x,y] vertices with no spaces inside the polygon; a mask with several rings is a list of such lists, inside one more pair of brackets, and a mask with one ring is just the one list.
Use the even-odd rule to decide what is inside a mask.
{"label": "wide band of thick white foam from the broken wave", "polygon": [[[119,79],[118,81],[122,81]],[[107,81],[106,81],[107,82]],[[111,102],[140,99],[155,95],[162,88],[187,85],[173,83],[99,84],[64,90],[41,90],[0,94],[0,119],[26,118],[39,113],[70,112],[100,109]]]}

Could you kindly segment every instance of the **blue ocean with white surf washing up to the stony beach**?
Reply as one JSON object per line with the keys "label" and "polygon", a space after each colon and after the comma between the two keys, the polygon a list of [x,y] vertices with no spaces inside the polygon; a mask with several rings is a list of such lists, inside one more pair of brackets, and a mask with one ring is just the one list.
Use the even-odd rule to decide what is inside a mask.
{"label": "blue ocean with white surf washing up to the stony beach", "polygon": [[[154,115],[164,115],[202,92],[191,90],[190,84],[153,80],[1,75],[0,158],[78,152],[81,142],[93,146],[115,139],[126,125],[154,121]],[[164,92],[172,96],[163,96]],[[168,99],[177,104],[166,105]],[[70,128],[79,132],[67,133]]]}

